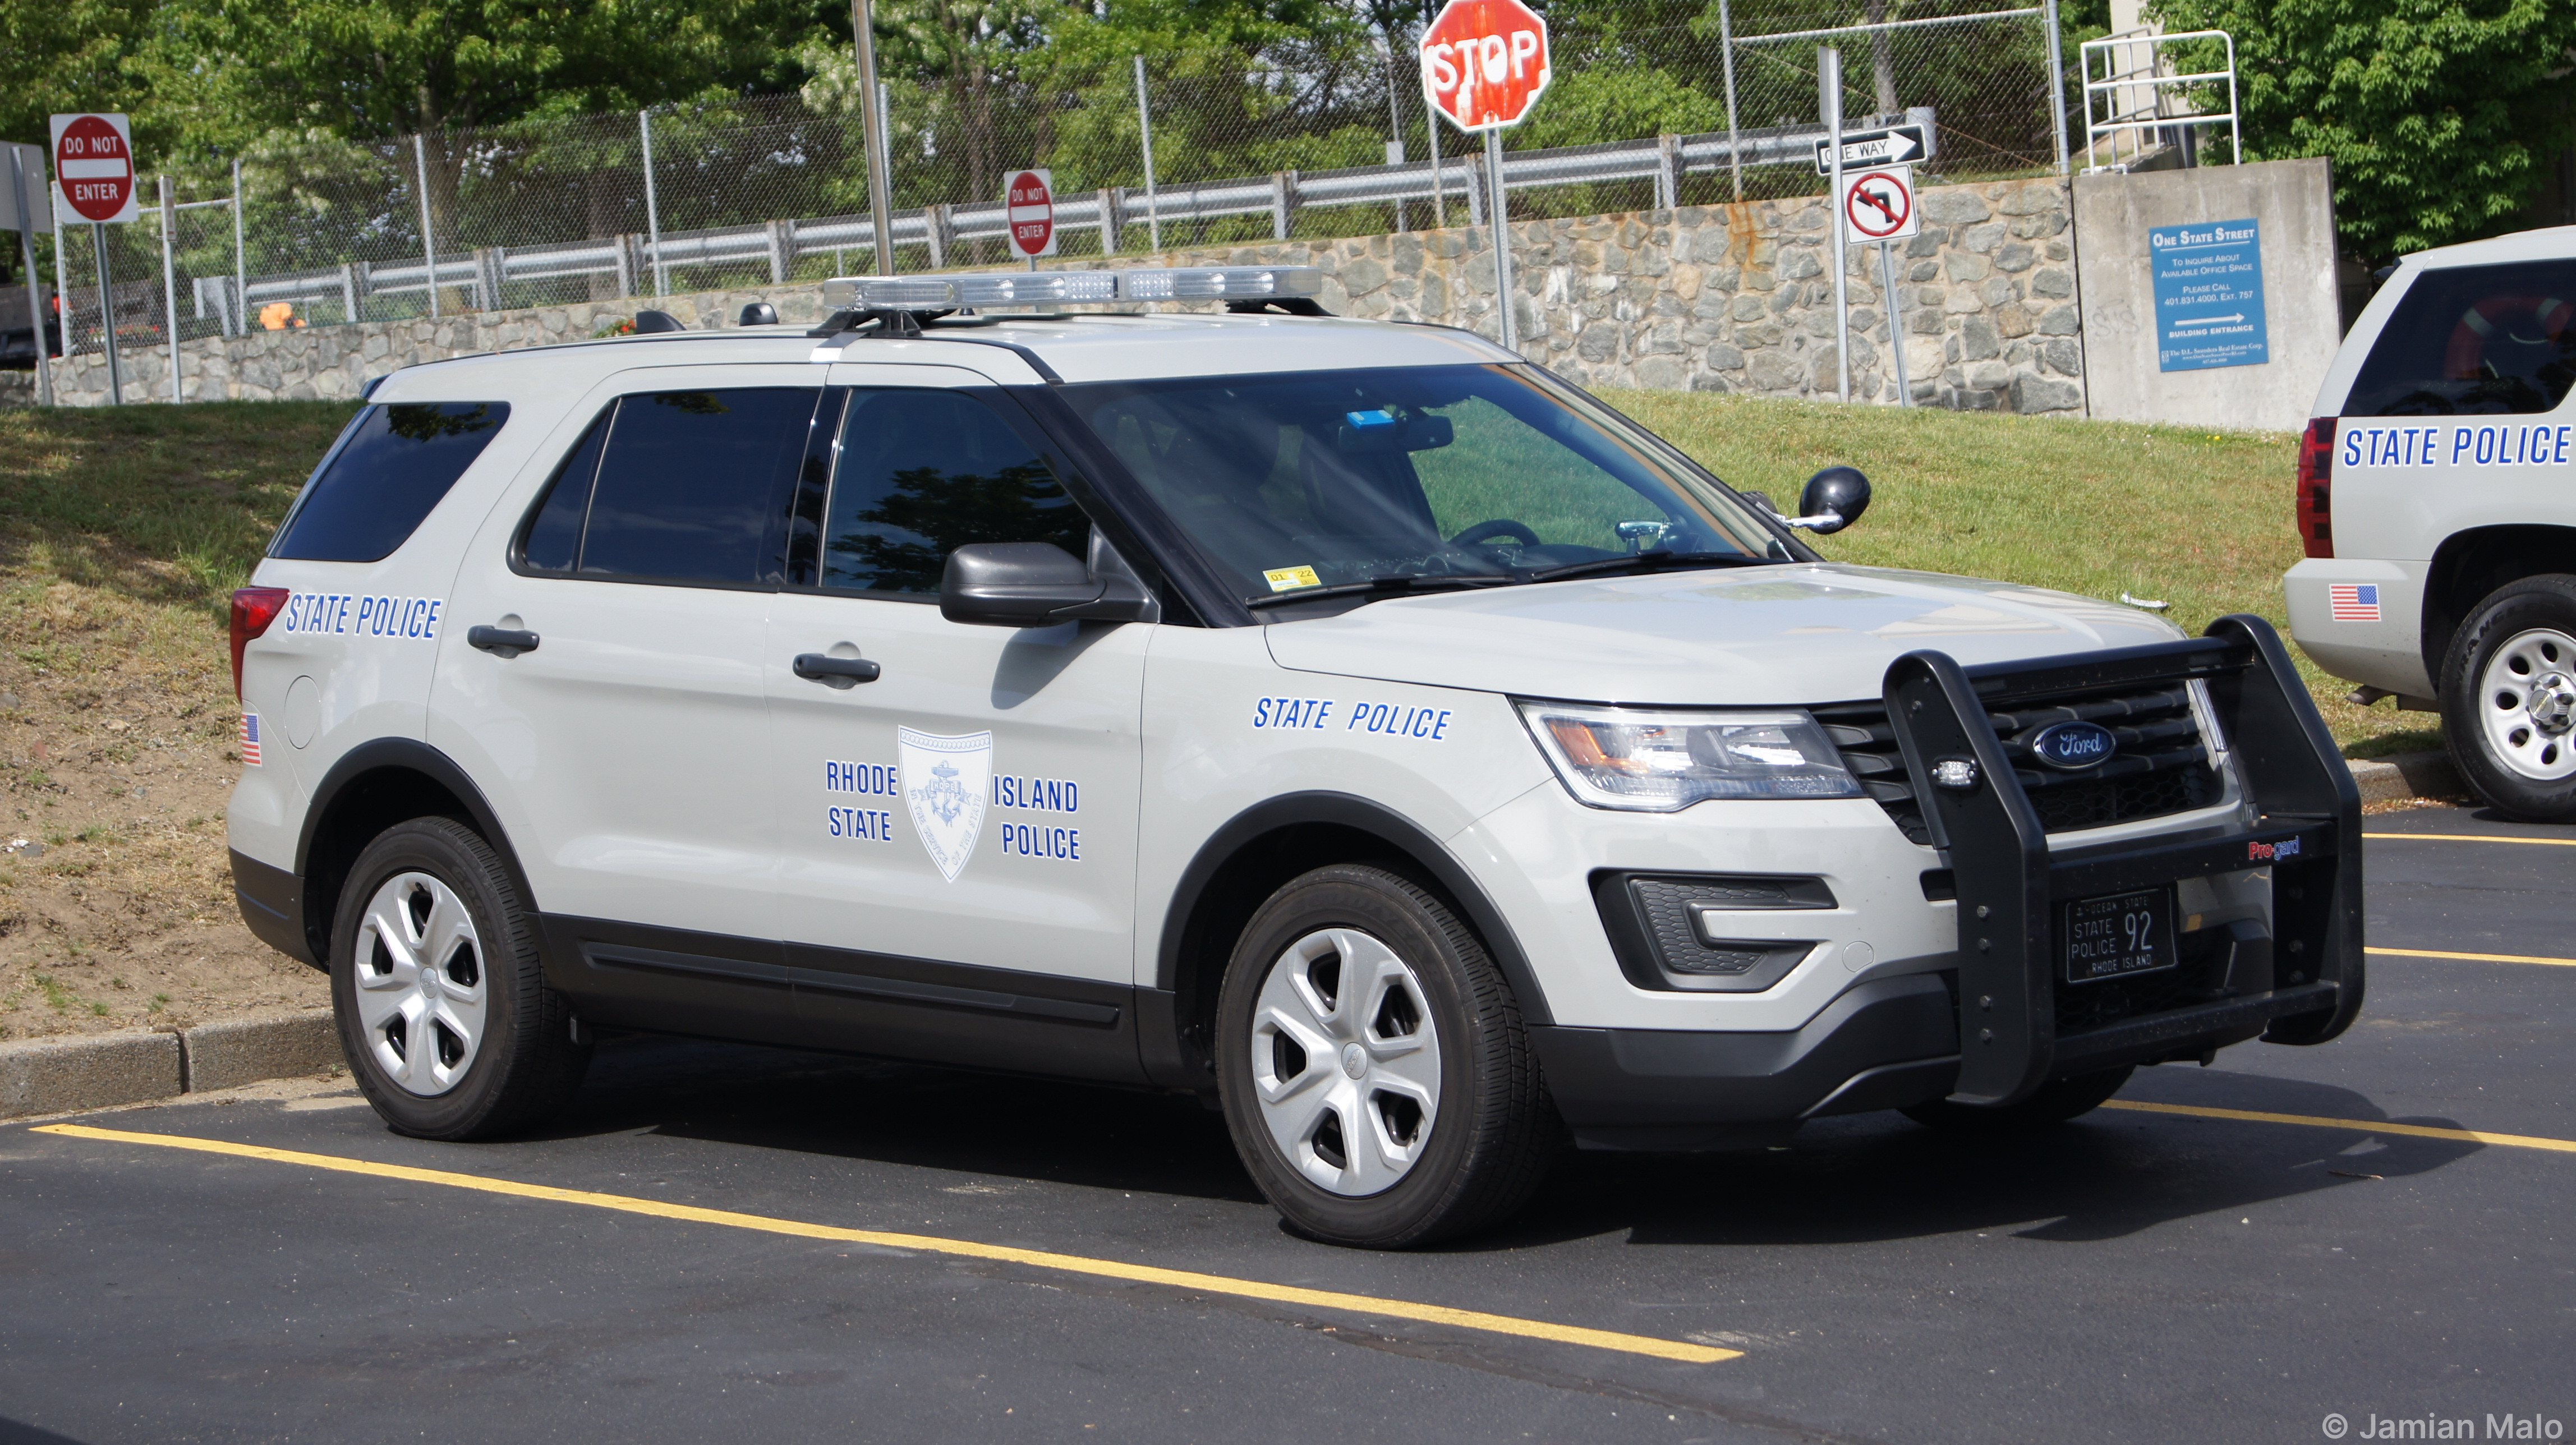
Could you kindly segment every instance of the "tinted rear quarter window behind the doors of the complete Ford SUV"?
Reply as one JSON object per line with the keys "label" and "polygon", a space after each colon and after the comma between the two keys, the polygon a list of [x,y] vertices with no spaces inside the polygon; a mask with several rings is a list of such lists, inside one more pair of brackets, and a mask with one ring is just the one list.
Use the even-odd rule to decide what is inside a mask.
{"label": "tinted rear quarter window behind the doors of the complete Ford SUV", "polygon": [[507,402],[404,402],[358,412],[268,554],[296,562],[392,556],[507,420]]}

